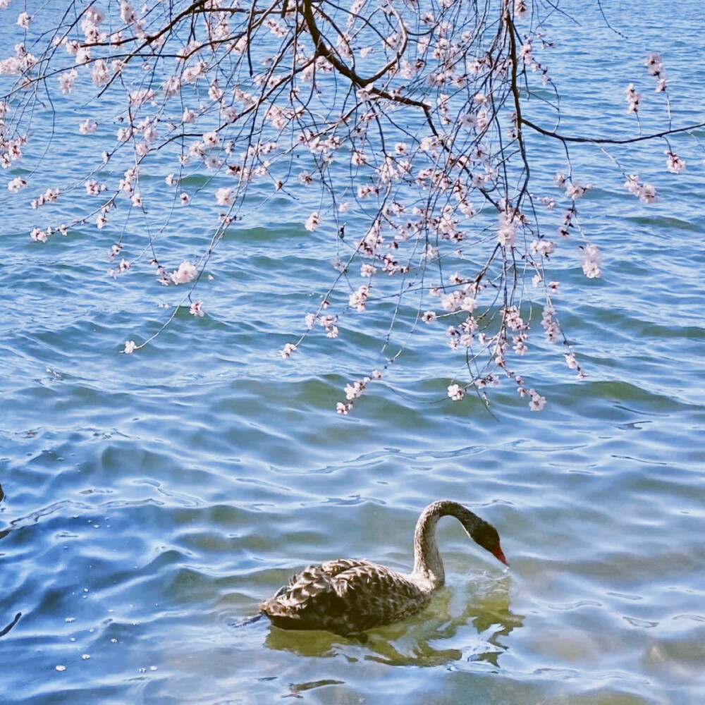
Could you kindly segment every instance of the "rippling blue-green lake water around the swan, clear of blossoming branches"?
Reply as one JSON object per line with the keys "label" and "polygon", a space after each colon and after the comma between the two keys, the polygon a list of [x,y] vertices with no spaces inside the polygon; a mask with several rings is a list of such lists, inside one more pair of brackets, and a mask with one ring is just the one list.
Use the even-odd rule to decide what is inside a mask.
{"label": "rippling blue-green lake water around the swan, clear of blossoming branches", "polygon": [[[700,121],[700,4],[603,5],[625,37],[595,8],[562,4],[582,24],[555,20],[570,32],[549,61],[565,132],[632,135],[623,90],[634,80],[646,94],[647,51],[663,54],[674,121]],[[645,132],[657,124],[643,119]],[[76,122],[60,115],[56,129]],[[381,342],[350,319],[337,341],[311,336],[282,360],[336,254],[330,232],[302,227],[306,204],[284,199],[228,231],[198,291],[203,318],[182,308],[122,355],[164,323],[174,289],[146,265],[106,276],[114,233],[33,243],[4,173],[0,629],[21,617],[0,637],[0,701],[700,703],[705,176],[692,137],[671,144],[688,161],[678,176],[663,142],[612,152],[656,183],[649,207],[599,150],[575,153],[595,184],[581,208],[605,266],[588,281],[577,256],[556,258],[561,321],[588,376],[551,350],[527,357],[548,398],[539,414],[511,388],[491,413],[451,402],[424,338],[337,415]],[[75,140],[54,147],[59,169],[85,159]],[[530,149],[539,180],[565,168],[547,142]],[[177,217],[180,252],[197,251],[200,222]],[[307,563],[409,568],[417,516],[443,497],[497,527],[510,570],[446,520],[447,584],[414,618],[367,639],[234,626]]]}

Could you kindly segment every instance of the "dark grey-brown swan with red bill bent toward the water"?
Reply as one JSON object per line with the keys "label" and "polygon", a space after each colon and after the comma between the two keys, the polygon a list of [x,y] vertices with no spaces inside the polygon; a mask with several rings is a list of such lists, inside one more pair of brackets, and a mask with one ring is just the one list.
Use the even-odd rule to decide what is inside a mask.
{"label": "dark grey-brown swan with red bill bent toward the water", "polygon": [[259,614],[283,629],[328,630],[347,635],[390,624],[418,612],[445,582],[436,544],[436,524],[455,517],[467,535],[509,565],[497,530],[458,502],[440,500],[419,516],[414,532],[414,568],[400,573],[369,560],[341,558],[309,565],[288,585],[259,604]]}

